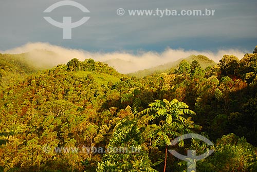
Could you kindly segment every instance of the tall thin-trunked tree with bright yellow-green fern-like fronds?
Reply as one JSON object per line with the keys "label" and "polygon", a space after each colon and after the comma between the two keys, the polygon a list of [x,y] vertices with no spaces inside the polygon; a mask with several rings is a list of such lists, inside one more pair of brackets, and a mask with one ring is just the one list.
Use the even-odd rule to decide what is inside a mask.
{"label": "tall thin-trunked tree with bright yellow-green fern-like fronds", "polygon": [[[155,121],[157,123],[157,129],[150,133],[150,137],[155,137],[155,141],[152,146],[161,145],[163,142],[166,145],[165,148],[165,160],[164,169],[166,171],[167,164],[167,151],[168,145],[172,139],[181,136],[183,133],[192,132],[191,129],[201,129],[201,126],[193,124],[191,117],[187,118],[187,115],[193,115],[195,112],[188,109],[188,105],[183,102],[179,102],[177,99],[173,99],[169,102],[166,99],[155,100],[154,103],[149,104],[149,108],[144,109],[141,113],[153,113],[147,121]],[[156,124],[152,124],[155,125]],[[179,143],[179,146],[183,146],[183,142]]]}

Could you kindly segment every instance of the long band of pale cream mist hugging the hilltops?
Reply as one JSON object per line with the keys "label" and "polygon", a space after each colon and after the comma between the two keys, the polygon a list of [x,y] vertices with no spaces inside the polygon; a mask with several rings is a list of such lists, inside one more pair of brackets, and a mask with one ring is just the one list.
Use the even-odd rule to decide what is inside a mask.
{"label": "long band of pale cream mist hugging the hilltops", "polygon": [[[46,51],[45,51],[46,50]],[[1,52],[1,51],[0,51]],[[212,51],[194,51],[183,49],[167,48],[159,53],[154,51],[140,51],[130,53],[126,51],[117,52],[89,52],[85,50],[68,49],[48,43],[28,43],[24,46],[2,51],[1,53],[19,54],[29,52],[30,61],[38,67],[53,67],[58,64],[66,64],[69,60],[77,58],[80,61],[85,59],[94,59],[107,63],[121,73],[130,73],[142,69],[151,68],[178,59],[187,58],[189,55],[205,55],[209,59],[218,62],[224,54],[233,54],[238,59],[243,58],[246,51],[238,49]]]}

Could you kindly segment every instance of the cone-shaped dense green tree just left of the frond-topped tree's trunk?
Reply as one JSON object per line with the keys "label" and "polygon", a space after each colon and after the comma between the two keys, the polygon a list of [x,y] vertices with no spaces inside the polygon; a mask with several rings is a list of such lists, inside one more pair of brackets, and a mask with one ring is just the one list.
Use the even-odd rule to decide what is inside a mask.
{"label": "cone-shaped dense green tree just left of the frond-topped tree's trunk", "polygon": [[[98,163],[97,171],[156,171],[148,154],[142,147],[140,130],[137,127],[133,113],[130,113],[114,128],[111,140],[107,146],[109,151],[103,161]],[[115,149],[117,148],[117,149]],[[120,151],[116,151],[116,150]]]}

